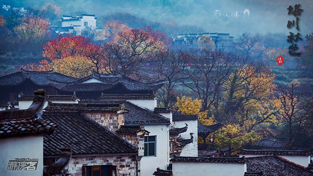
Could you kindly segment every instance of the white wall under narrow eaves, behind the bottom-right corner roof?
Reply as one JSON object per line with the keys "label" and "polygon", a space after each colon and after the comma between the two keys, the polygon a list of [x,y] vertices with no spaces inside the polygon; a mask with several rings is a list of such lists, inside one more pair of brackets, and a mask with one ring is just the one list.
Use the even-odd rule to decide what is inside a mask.
{"label": "white wall under narrow eaves, behind the bottom-right corner roof", "polygon": [[[258,157],[258,156],[267,156],[266,154],[264,155],[254,155],[254,154],[240,154],[239,157]],[[304,166],[304,167],[308,167],[309,166],[309,163],[310,163],[310,159],[311,157],[310,156],[300,156],[300,155],[276,155],[276,156],[279,156],[279,157],[282,157],[282,158],[285,158],[285,159],[288,159],[289,161],[291,162],[294,162],[294,163],[297,163],[297,164],[300,164],[301,166]]]}

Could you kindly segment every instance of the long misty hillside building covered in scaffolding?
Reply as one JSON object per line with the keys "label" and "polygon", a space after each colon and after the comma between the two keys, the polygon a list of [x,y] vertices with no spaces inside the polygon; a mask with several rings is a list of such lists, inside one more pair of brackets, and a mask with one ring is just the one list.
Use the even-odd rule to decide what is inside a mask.
{"label": "long misty hillside building covered in scaffolding", "polygon": [[179,49],[211,48],[214,51],[233,52],[234,37],[229,33],[189,33],[172,36],[173,46]]}

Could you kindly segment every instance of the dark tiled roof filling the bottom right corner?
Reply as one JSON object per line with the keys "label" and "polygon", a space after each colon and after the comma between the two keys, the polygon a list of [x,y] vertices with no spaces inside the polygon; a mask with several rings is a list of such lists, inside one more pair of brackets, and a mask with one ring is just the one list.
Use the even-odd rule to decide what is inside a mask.
{"label": "dark tiled roof filling the bottom right corner", "polygon": [[262,171],[266,176],[312,176],[309,171],[299,164],[292,163],[284,158],[274,155],[249,157],[247,160],[247,172]]}

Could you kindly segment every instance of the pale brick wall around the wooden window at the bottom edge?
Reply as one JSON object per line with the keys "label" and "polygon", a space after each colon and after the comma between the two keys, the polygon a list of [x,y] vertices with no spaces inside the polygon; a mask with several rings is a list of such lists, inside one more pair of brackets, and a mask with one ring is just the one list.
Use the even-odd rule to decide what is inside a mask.
{"label": "pale brick wall around the wooden window at the bottom edge", "polygon": [[[44,158],[44,165],[52,164],[50,160],[57,161],[57,158]],[[83,166],[114,165],[116,166],[117,176],[136,176],[135,160],[135,155],[72,157],[69,162],[69,173],[72,176],[81,176]],[[138,161],[138,170],[140,176],[140,161]]]}

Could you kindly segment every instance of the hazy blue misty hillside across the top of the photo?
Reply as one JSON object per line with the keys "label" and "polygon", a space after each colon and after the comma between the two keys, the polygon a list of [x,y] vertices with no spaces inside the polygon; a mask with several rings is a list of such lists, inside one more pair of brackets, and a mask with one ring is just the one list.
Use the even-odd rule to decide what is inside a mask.
{"label": "hazy blue misty hillside across the top of the photo", "polygon": [[[290,5],[295,5],[295,2],[291,0],[37,0],[35,2],[31,0],[1,0],[0,4],[13,7],[41,8],[48,2],[60,6],[64,15],[69,15],[75,11],[85,11],[98,17],[110,16],[114,13],[129,13],[136,15],[142,24],[150,24],[148,21],[161,24],[175,21],[178,25],[201,26],[205,29],[202,32],[231,33],[233,36],[240,35],[245,31],[288,34],[287,22],[295,18],[287,14],[287,8]],[[311,0],[300,0],[296,3],[300,3],[300,8],[304,10],[300,16],[300,31],[303,35],[308,34],[313,27],[311,23],[313,12],[310,11],[313,8],[313,3]],[[241,11],[244,9],[249,9],[249,18],[214,15],[215,10]],[[146,20],[141,20],[142,18]]]}

